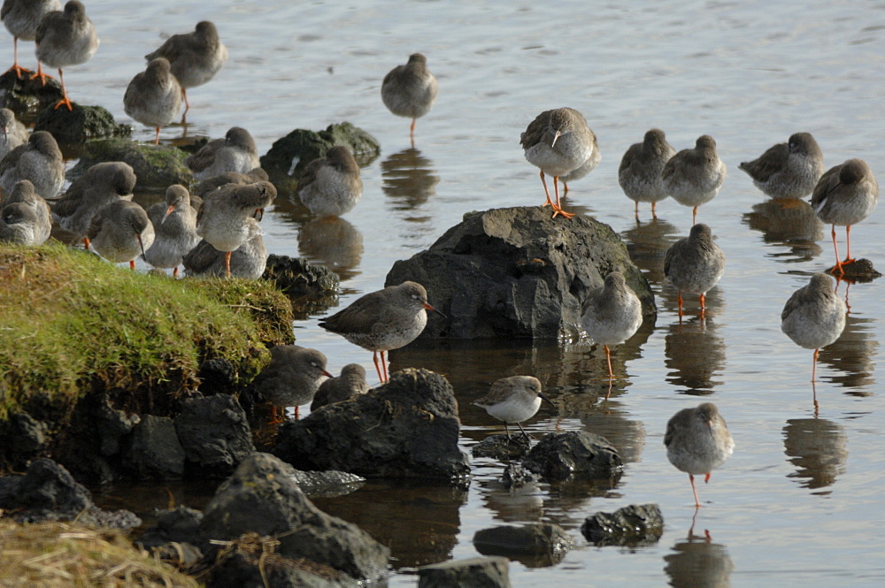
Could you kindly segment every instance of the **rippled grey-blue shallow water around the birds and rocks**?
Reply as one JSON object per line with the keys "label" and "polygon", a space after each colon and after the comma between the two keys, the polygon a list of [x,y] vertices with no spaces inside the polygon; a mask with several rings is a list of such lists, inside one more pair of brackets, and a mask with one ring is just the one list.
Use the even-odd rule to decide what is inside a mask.
{"label": "rippled grey-blue shallow water around the birds and rocks", "polygon": [[[349,120],[374,134],[382,153],[362,171],[356,210],[323,224],[281,198],[263,221],[272,252],[340,271],[342,306],[383,286],[392,263],[427,248],[466,211],[543,202],[519,133],[540,111],[559,106],[588,119],[603,160],[573,183],[566,210],[619,231],[658,296],[655,325],[615,351],[611,400],[601,400],[604,354],[586,341],[416,344],[393,353],[391,368],[423,366],[450,379],[466,450],[499,430],[470,401],[496,378],[534,374],[559,414],[542,409],[527,429],[536,436],[556,427],[602,433],[624,455],[624,475],[612,484],[537,484],[509,493],[496,482],[503,464],[476,459],[466,492],[372,483],[343,499],[318,500],[392,546],[391,585],[414,585],[419,565],[476,555],[475,531],[535,521],[562,525],[576,547],[555,565],[513,561],[513,585],[882,585],[885,404],[875,364],[885,281],[839,287],[851,312],[843,338],[821,353],[815,415],[812,352],[795,346],[779,323],[789,294],[832,264],[829,227],[807,210],[766,203],[737,164],[808,131],[827,167],[862,157],[885,177],[885,6],[502,4],[89,2],[102,45],[65,81],[74,101],[102,104],[127,120],[122,95],[142,55],[166,34],[212,19],[231,57],[215,80],[189,93],[188,134],[219,137],[244,126],[260,153],[299,127]],[[6,51],[11,59],[11,43]],[[427,55],[440,95],[419,120],[412,149],[409,121],[386,111],[380,83],[414,51]],[[28,65],[27,43],[21,55]],[[664,251],[688,233],[690,210],[665,201],[657,222],[647,208],[636,222],[618,187],[621,155],[651,126],[663,128],[676,149],[711,134],[728,165],[720,195],[698,213],[727,254],[705,324],[691,301],[680,329],[675,293],[661,286]],[[152,130],[136,128],[139,139],[152,139]],[[161,138],[183,132],[168,128]],[[882,218],[876,211],[852,231],[853,253],[880,269]],[[844,247],[842,230],[839,238]],[[333,371],[358,362],[373,373],[369,354],[319,329],[317,317],[295,327],[299,344],[321,349]],[[711,483],[700,485],[705,506],[689,537],[695,509],[688,480],[667,462],[663,436],[667,419],[696,405],[696,396],[719,406],[736,448]],[[585,516],[646,502],[665,516],[658,545],[596,548],[581,537]]]}

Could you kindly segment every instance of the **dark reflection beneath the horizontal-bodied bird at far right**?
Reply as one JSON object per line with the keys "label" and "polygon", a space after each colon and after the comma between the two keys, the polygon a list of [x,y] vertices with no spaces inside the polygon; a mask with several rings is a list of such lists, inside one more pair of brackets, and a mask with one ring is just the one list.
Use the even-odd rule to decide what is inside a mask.
{"label": "dark reflection beneath the horizontal-bodied bird at far right", "polygon": [[824,225],[802,200],[769,200],[753,205],[753,211],[743,215],[743,223],[762,233],[766,243],[789,248],[789,252],[772,253],[789,263],[810,261],[819,256]]}

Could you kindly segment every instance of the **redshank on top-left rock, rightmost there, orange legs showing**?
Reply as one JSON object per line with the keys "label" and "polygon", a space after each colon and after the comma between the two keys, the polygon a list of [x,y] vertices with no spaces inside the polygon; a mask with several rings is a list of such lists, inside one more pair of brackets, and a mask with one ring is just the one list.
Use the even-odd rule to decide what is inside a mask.
{"label": "redshank on top-left rock, rightmost there, orange legs showing", "polygon": [[61,91],[65,97],[58,101],[55,108],[64,104],[67,110],[72,111],[73,104],[67,97],[62,68],[85,64],[98,50],[96,27],[86,16],[86,8],[77,0],[68,0],[64,11],[47,12],[37,27],[35,41],[37,59],[58,68],[58,79],[61,80]]}

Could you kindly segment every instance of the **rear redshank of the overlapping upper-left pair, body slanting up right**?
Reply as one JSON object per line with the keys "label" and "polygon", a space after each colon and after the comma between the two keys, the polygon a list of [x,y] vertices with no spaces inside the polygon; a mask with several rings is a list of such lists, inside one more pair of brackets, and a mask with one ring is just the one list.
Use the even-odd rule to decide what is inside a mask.
{"label": "rear redshank of the overlapping upper-left pair, body slanting up right", "polygon": [[183,120],[190,109],[188,88],[202,86],[215,77],[227,62],[227,47],[219,38],[218,28],[212,22],[203,20],[196,23],[193,33],[173,34],[158,50],[144,56],[148,61],[157,57],[165,57],[169,61],[173,75],[181,84]]}

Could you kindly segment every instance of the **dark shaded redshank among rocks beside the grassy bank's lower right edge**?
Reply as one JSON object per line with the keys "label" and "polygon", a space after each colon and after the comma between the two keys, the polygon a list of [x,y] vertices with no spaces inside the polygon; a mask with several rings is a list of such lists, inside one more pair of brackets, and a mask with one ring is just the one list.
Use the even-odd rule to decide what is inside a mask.
{"label": "dark shaded redshank among rocks beside the grassy bank's lower right edge", "polygon": [[332,374],[326,371],[326,355],[316,349],[297,345],[271,347],[271,363],[267,365],[253,386],[273,404],[273,423],[279,423],[277,407],[298,407],[313,400],[319,385]]}

